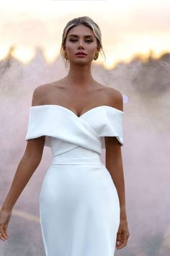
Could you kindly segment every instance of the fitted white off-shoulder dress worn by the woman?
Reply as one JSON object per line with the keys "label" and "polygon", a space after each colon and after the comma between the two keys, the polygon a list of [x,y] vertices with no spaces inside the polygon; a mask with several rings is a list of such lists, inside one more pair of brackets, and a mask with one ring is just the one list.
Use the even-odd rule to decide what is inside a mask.
{"label": "fitted white off-shoulder dress worn by the woman", "polygon": [[25,140],[45,135],[53,153],[40,192],[46,256],[114,255],[120,203],[100,155],[106,136],[123,145],[123,115],[111,106],[81,116],[60,105],[30,106]]}

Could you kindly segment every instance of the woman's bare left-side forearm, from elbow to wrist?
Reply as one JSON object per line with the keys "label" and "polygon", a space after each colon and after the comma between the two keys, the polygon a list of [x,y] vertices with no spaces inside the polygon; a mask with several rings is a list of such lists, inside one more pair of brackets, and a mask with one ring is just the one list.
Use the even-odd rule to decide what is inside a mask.
{"label": "woman's bare left-side forearm, from elbow to wrist", "polygon": [[37,161],[37,159],[23,155],[19,165],[17,166],[17,171],[14,174],[12,185],[6,195],[2,209],[12,210],[19,195],[22,193],[27,182],[29,182],[39,163],[40,161]]}

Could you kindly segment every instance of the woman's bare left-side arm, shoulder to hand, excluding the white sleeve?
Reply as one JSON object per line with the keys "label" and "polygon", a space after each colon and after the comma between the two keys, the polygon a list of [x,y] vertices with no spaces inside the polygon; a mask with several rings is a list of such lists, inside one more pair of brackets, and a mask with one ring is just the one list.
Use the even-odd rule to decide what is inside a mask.
{"label": "woman's bare left-side arm, shoulder to hand, excluding the white sleeve", "polygon": [[[39,99],[39,88],[36,88],[32,97],[32,106],[38,105],[40,101]],[[7,226],[12,215],[12,208],[39,165],[44,144],[45,136],[27,141],[24,155],[19,161],[12,185],[0,210],[0,239],[3,241],[8,238]]]}

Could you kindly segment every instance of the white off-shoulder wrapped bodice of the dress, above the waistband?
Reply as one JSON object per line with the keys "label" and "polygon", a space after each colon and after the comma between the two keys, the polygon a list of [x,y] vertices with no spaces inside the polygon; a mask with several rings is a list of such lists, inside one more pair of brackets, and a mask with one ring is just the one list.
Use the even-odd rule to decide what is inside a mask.
{"label": "white off-shoulder wrapped bodice of the dress, above the waistband", "polygon": [[45,135],[45,146],[53,155],[77,147],[101,154],[104,137],[117,137],[123,145],[123,115],[111,106],[97,106],[81,116],[59,105],[30,106],[25,140]]}

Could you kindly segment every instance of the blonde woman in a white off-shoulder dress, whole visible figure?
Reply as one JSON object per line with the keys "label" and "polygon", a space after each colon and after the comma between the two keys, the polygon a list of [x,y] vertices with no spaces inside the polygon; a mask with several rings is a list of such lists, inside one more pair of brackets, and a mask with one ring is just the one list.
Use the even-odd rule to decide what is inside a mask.
{"label": "blonde woman in a white off-shoulder dress, whole visible figure", "polygon": [[[35,88],[27,147],[0,212],[1,240],[8,239],[12,208],[42,158],[53,161],[40,192],[40,223],[48,256],[112,256],[128,242],[122,169],[122,95],[91,75],[102,51],[101,31],[89,17],[63,30],[66,77]],[[106,148],[106,166],[101,162]]]}

